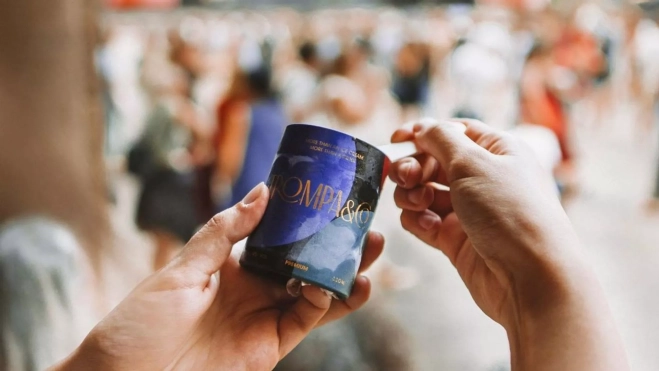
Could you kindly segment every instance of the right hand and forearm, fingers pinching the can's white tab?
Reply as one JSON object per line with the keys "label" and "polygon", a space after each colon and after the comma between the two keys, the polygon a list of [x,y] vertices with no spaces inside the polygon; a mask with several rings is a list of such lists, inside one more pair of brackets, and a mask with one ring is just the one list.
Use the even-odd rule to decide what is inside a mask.
{"label": "right hand and forearm, fingers pinching the can's white tab", "polygon": [[513,369],[627,369],[599,284],[531,150],[473,120],[412,124],[392,138],[407,140],[422,154],[392,166],[402,225],[446,254],[503,325]]}

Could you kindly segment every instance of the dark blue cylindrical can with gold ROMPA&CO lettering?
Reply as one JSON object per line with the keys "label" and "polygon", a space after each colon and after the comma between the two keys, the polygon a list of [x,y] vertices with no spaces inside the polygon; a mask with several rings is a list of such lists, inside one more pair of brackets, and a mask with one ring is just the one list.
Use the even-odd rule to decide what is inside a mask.
{"label": "dark blue cylindrical can with gold ROMPA&CO lettering", "polygon": [[347,298],[388,167],[384,153],[350,135],[288,126],[240,264]]}

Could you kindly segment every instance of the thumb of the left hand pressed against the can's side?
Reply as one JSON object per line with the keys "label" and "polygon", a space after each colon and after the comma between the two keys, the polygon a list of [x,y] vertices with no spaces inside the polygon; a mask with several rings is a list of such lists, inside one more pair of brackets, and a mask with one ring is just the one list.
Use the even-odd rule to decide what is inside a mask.
{"label": "thumb of the left hand pressed against the can's side", "polygon": [[247,237],[261,221],[268,203],[268,188],[257,185],[245,198],[215,215],[195,234],[173,262],[211,275],[231,253],[233,245]]}

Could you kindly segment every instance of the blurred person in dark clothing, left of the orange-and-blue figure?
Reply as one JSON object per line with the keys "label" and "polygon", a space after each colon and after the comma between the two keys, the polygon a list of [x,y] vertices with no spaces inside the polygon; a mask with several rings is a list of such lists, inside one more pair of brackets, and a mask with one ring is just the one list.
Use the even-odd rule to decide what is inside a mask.
{"label": "blurred person in dark clothing, left of the orange-and-blue figure", "polygon": [[194,167],[200,138],[208,136],[203,112],[190,99],[183,70],[164,63],[142,137],[129,153],[129,171],[142,189],[137,225],[155,241],[153,268],[164,266],[202,223],[195,199]]}

